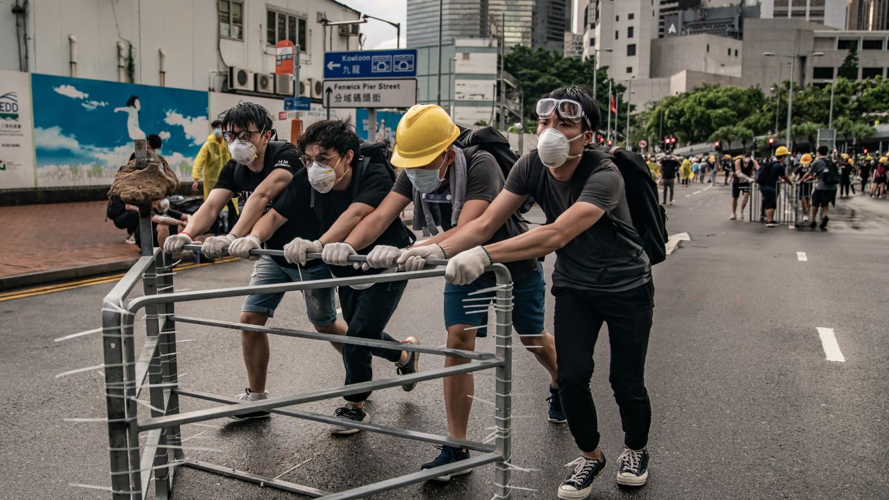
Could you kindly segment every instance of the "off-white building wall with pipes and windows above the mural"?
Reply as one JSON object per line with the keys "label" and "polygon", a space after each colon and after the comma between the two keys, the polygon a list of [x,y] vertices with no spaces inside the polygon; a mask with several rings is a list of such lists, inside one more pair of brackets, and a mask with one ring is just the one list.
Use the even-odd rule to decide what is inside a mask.
{"label": "off-white building wall with pipes and windows above the mural", "polygon": [[[0,0],[0,46],[4,47],[0,69],[18,71],[12,4],[12,0]],[[133,48],[132,83],[160,84],[158,50],[163,49],[166,85],[193,90],[207,90],[210,72],[225,69],[223,61],[254,72],[274,72],[274,47],[266,44],[267,7],[307,20],[308,47],[300,57],[302,79],[323,75],[324,37],[318,13],[324,12],[330,20],[357,18],[356,12],[328,0],[247,1],[243,40],[229,40],[217,36],[216,0],[40,0],[29,5],[31,72],[68,76],[68,35],[74,35],[77,77],[116,81],[116,44],[125,40],[132,42]],[[346,45],[347,38],[335,32],[334,50],[346,50]],[[353,36],[351,48],[356,45]],[[219,89],[222,78],[212,78]]]}

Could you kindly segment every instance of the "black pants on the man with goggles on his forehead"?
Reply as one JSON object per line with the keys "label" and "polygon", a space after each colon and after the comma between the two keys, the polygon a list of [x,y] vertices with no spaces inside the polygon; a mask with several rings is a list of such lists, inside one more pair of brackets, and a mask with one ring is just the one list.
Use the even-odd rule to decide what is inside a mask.
{"label": "black pants on the man with goggles on his forehead", "polygon": [[652,423],[652,407],[645,390],[645,354],[652,329],[653,282],[611,294],[559,286],[553,287],[553,294],[559,398],[577,448],[591,452],[599,446],[589,381],[593,376],[593,350],[603,322],[608,325],[611,343],[608,380],[621,411],[624,444],[631,449],[645,448]]}

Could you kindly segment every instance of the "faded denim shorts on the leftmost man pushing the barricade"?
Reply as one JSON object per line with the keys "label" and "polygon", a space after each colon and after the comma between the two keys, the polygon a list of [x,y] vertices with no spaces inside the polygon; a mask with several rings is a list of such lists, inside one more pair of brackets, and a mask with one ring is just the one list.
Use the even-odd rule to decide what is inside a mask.
{"label": "faded denim shorts on the leftmost man pushing the barricade", "polygon": [[[316,265],[308,269],[297,270],[285,268],[276,264],[268,255],[263,255],[253,266],[253,274],[250,277],[250,286],[278,285],[281,283],[295,283],[300,281],[300,273],[303,281],[332,278],[330,269],[325,264]],[[336,321],[336,299],[333,296],[333,288],[316,288],[314,290],[302,290],[306,298],[306,312],[308,320],[316,327],[327,327]],[[269,318],[275,316],[275,310],[284,294],[258,294],[247,295],[244,301],[243,312],[261,312],[268,314]]]}

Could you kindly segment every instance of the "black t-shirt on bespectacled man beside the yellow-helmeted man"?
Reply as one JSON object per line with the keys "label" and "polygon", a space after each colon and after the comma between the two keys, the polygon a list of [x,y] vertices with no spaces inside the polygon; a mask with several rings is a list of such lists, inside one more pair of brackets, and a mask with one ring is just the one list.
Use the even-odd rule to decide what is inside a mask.
{"label": "black t-shirt on bespectacled man beside the yellow-helmeted man", "polygon": [[[392,190],[393,181],[388,166],[376,163],[370,163],[366,167],[360,165],[360,163],[353,165],[352,168],[354,170],[348,188],[345,190],[331,190],[327,193],[319,193],[313,190],[308,183],[308,174],[303,169],[300,173],[293,176],[293,181],[284,190],[284,193],[278,197],[274,206],[275,211],[278,214],[284,215],[288,221],[292,221],[293,218],[305,217],[307,212],[314,214],[316,221],[320,222],[320,232],[324,234],[340,218],[340,215],[348,209],[348,206],[353,203],[364,203],[364,205],[369,205],[373,208],[380,206],[383,198],[386,198],[388,192]],[[407,234],[408,231],[404,227],[404,222],[396,219],[388,225],[388,228],[383,231],[380,238],[377,238],[376,241],[365,248],[356,248],[355,250],[358,254],[366,255],[374,246],[378,245],[404,248],[404,246],[410,243]],[[317,237],[313,239],[317,239]],[[331,272],[333,276],[338,278],[348,278],[377,274],[382,272],[382,270],[356,270],[351,265],[348,265],[331,266]]]}

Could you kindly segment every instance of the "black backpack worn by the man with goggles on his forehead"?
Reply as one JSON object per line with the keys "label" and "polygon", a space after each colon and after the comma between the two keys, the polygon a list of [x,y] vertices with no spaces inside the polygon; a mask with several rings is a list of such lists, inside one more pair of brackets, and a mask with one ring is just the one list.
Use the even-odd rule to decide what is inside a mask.
{"label": "black backpack worn by the man with goggles on his forehead", "polygon": [[[534,160],[540,163],[536,149],[533,154]],[[592,161],[581,162],[577,171],[574,172],[571,187],[572,197],[577,199],[581,195],[589,175],[597,169],[598,165],[603,161],[611,160],[623,177],[627,206],[630,217],[633,219],[632,229],[635,231],[629,230],[626,222],[612,217],[611,214],[605,214],[607,220],[612,222],[615,230],[623,232],[637,245],[642,246],[652,265],[664,262],[667,259],[666,245],[669,238],[667,235],[667,213],[658,201],[658,186],[648,172],[645,158],[626,149],[607,149],[605,146],[585,149],[584,155],[591,155]],[[543,167],[543,173],[546,173],[546,167]]]}

